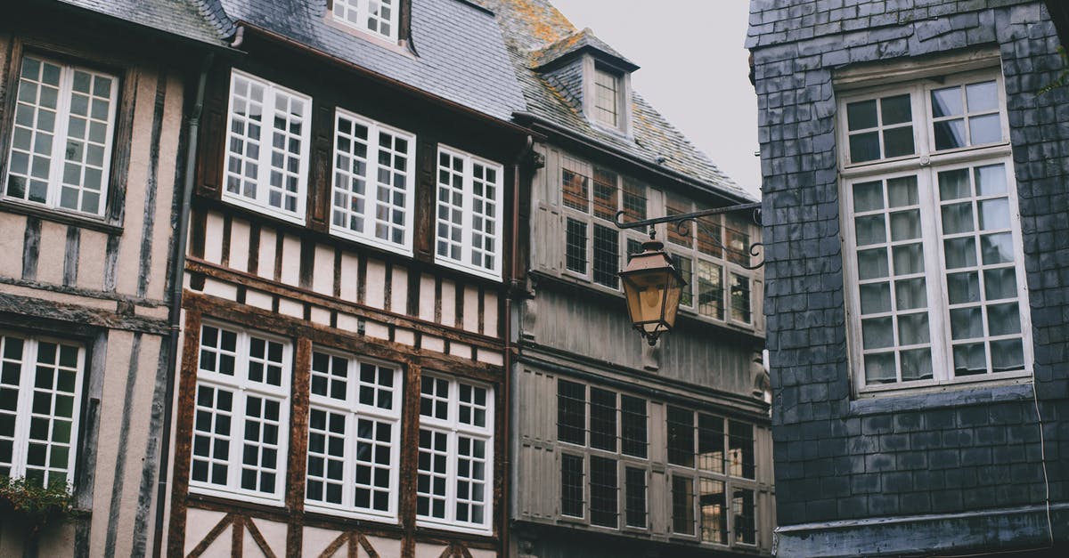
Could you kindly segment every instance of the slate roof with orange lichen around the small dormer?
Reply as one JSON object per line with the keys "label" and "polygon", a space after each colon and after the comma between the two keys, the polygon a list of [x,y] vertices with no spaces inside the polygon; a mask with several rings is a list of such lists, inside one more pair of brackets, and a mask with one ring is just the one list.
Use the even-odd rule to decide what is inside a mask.
{"label": "slate roof with orange lichen around the small dormer", "polygon": [[[563,92],[533,69],[544,64],[539,58],[544,55],[540,52],[582,33],[547,0],[476,1],[497,14],[516,77],[523,86],[527,112],[647,164],[657,165],[659,157],[664,157],[660,164],[662,167],[691,176],[708,191],[754,199],[753,195],[721,172],[708,155],[691,143],[638,93],[632,94],[633,138],[625,138],[592,126],[579,107],[569,103]],[[592,33],[590,36],[593,36]]]}

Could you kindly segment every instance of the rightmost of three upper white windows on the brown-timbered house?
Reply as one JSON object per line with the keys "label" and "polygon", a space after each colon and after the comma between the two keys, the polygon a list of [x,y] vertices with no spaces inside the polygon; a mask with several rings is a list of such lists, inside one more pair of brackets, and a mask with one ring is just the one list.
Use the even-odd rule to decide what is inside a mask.
{"label": "rightmost of three upper white windows on the brown-timbered house", "polygon": [[438,146],[437,263],[501,278],[502,181],[500,165]]}

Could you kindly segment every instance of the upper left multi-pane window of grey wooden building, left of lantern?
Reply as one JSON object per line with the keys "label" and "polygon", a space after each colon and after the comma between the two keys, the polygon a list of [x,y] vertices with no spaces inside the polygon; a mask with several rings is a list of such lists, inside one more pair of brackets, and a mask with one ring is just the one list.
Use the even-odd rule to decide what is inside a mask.
{"label": "upper left multi-pane window of grey wooden building, left of lantern", "polygon": [[[646,218],[646,188],[633,180],[595,166],[567,159],[561,169],[564,219],[564,267],[594,283],[619,289],[623,253],[620,231],[614,224],[619,211],[624,220]],[[641,251],[628,238],[628,253]]]}

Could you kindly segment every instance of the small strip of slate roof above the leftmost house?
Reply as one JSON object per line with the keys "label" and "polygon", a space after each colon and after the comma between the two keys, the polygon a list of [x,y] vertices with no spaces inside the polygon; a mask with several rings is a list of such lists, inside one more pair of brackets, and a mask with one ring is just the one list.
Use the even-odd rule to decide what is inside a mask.
{"label": "small strip of slate roof above the leftmost house", "polygon": [[206,6],[200,0],[57,0],[57,2],[215,46],[226,45],[223,40],[229,35],[205,12]]}

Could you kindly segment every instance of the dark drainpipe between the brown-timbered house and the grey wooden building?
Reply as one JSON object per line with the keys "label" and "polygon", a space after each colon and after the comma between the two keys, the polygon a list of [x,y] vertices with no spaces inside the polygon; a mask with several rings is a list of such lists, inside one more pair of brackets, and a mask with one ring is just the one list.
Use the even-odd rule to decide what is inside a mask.
{"label": "dark drainpipe between the brown-timbered house and the grey wooden building", "polygon": [[501,464],[505,469],[505,475],[502,478],[501,492],[505,496],[505,506],[501,506],[501,556],[509,556],[509,517],[512,515],[512,507],[514,506],[513,491],[511,487],[515,483],[515,475],[512,468],[512,454],[516,449],[513,447],[513,436],[512,436],[512,425],[517,422],[518,417],[515,416],[515,406],[512,404],[516,399],[516,393],[513,393],[514,384],[512,383],[512,374],[515,372],[512,366],[512,298],[515,293],[520,290],[520,282],[516,276],[520,275],[518,272],[518,254],[520,254],[520,173],[522,172],[522,162],[524,157],[531,152],[531,146],[534,144],[534,139],[531,136],[527,136],[527,143],[524,145],[523,151],[520,156],[516,157],[515,162],[512,164],[512,249],[509,269],[509,286],[508,293],[505,297],[505,436],[506,436],[506,448],[505,461]]}

